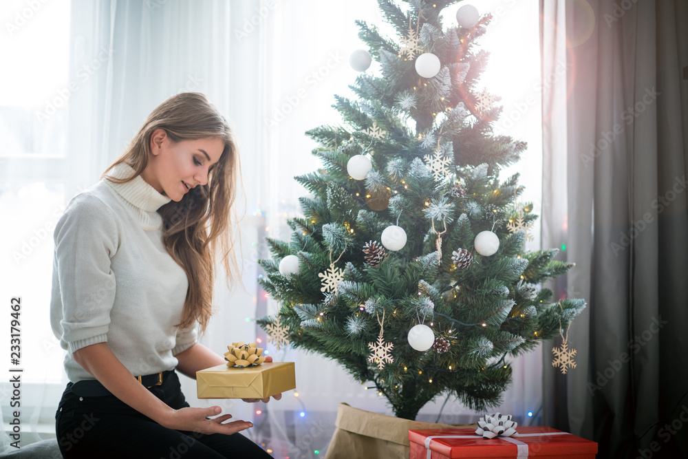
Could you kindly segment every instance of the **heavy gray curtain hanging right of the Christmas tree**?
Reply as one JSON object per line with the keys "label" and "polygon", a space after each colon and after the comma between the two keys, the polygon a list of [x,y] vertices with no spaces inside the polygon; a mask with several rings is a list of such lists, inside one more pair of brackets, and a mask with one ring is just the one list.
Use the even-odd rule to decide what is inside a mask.
{"label": "heavy gray curtain hanging right of the Christmas tree", "polygon": [[546,346],[544,422],[601,458],[686,457],[688,2],[540,12],[542,244],[576,263],[550,287],[588,301],[568,332],[577,368]]}

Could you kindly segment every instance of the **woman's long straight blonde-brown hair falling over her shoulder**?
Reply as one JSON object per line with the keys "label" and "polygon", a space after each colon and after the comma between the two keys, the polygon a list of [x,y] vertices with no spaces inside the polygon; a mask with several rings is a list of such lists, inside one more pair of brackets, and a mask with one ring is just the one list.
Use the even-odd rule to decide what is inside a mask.
{"label": "woman's long straight blonde-brown hair falling over her shoulder", "polygon": [[202,333],[213,313],[217,256],[222,257],[228,281],[235,281],[238,274],[232,233],[233,203],[237,179],[241,177],[237,142],[225,118],[206,96],[197,92],[176,94],[151,112],[125,153],[107,168],[103,178],[121,162],[129,164],[136,173],[127,179],[107,175],[108,180],[125,183],[140,175],[151,156],[151,135],[155,129],[164,129],[172,142],[209,137],[224,140],[222,156],[208,171],[208,183],[195,186],[180,202],[171,201],[158,209],[164,225],[162,243],[189,277],[178,326],[187,328],[198,321]]}

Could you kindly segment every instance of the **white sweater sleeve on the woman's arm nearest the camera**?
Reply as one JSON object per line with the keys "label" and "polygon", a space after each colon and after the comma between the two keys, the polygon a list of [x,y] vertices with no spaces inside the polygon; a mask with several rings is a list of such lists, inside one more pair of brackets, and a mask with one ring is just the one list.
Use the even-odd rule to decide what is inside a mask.
{"label": "white sweater sleeve on the woman's arm nearest the camera", "polygon": [[69,352],[107,342],[115,275],[110,259],[118,248],[117,224],[111,209],[93,195],[76,196],[55,232],[54,282],[59,299],[51,315],[60,317],[61,340]]}

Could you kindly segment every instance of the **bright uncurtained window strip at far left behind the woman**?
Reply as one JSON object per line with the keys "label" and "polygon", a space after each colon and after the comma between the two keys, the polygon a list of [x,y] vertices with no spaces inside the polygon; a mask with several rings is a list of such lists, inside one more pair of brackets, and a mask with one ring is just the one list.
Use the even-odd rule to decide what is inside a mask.
{"label": "bright uncurtained window strip at far left behind the woman", "polygon": [[[5,306],[0,326],[7,336],[10,299],[21,297],[21,358],[6,367],[23,369],[22,445],[30,442],[29,432],[54,430],[50,422],[59,393],[53,392],[63,389],[63,350],[52,334],[49,308],[52,235],[64,210],[69,173],[69,12],[69,0],[0,6],[0,301]],[[9,388],[0,384],[6,421]],[[43,403],[50,409],[41,409]]]}

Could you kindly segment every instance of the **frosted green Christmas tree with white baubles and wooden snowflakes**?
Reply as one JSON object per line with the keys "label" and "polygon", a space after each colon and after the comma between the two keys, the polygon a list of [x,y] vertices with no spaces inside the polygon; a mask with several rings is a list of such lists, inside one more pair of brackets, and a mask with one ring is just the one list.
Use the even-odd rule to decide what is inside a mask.
{"label": "frosted green Christmas tree with white baubles and wooden snowflakes", "polygon": [[525,251],[537,215],[518,202],[526,149],[493,133],[498,98],[477,85],[490,17],[456,0],[378,0],[398,39],[357,21],[358,100],[335,96],[344,126],[308,131],[323,168],[296,180],[303,218],[291,241],[268,238],[261,286],[281,304],[258,323],[273,343],[323,354],[375,385],[400,418],[440,394],[475,410],[501,402],[508,357],[565,330],[582,299],[552,301],[541,282],[573,265]]}

